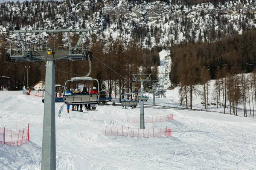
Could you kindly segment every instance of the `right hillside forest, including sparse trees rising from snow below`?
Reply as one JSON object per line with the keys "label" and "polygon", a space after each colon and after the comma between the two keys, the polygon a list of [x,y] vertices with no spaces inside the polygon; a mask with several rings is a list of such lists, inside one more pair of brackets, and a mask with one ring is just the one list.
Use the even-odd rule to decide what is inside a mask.
{"label": "right hillside forest, including sparse trees rising from snow below", "polygon": [[243,103],[244,111],[248,103],[253,108],[250,101],[256,100],[256,30],[216,42],[182,42],[172,45],[170,55],[170,80],[174,87],[180,87],[180,105],[192,108],[193,97],[201,96],[207,108],[209,80],[216,79],[214,93],[224,112],[230,105],[226,113],[237,113],[239,103]]}

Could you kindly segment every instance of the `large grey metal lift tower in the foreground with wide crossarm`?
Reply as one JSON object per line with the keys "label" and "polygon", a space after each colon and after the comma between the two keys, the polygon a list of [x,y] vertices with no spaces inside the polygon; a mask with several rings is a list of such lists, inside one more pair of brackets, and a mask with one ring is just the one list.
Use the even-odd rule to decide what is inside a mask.
{"label": "large grey metal lift tower in the foreground with wide crossarm", "polygon": [[[41,32],[82,32],[75,47],[69,50],[35,51],[27,48],[22,40],[20,33],[41,33]],[[10,34],[17,34],[22,48],[12,48],[10,45],[9,54],[6,57],[7,62],[18,61],[45,61],[45,102],[44,102],[44,125],[43,125],[43,146],[42,146],[42,164],[41,170],[56,170],[56,144],[55,144],[55,60],[92,60],[92,53],[80,46],[84,35],[92,29],[61,29],[61,30],[15,30],[9,31]],[[35,43],[32,43],[35,44]]]}

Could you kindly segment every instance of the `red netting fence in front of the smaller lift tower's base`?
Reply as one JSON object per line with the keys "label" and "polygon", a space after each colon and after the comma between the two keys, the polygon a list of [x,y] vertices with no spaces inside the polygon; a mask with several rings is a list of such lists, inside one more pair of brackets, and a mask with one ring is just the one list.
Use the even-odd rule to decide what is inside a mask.
{"label": "red netting fence in front of the smaller lift tower's base", "polygon": [[131,137],[170,137],[172,136],[172,128],[153,128],[153,129],[139,129],[139,128],[125,128],[125,127],[108,127],[106,126],[105,136],[131,136]]}

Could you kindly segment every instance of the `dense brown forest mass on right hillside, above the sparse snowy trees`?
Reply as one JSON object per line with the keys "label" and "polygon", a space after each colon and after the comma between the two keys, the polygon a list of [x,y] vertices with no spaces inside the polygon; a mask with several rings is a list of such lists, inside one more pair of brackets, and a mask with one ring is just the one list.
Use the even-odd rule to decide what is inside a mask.
{"label": "dense brown forest mass on right hillside, above the sparse snowy trees", "polygon": [[[211,79],[218,79],[218,72],[230,74],[249,73],[256,68],[256,30],[235,34],[215,42],[181,42],[170,48],[172,66],[170,79],[173,85],[182,80],[179,74],[192,69],[193,83],[200,82],[200,71],[206,67]],[[187,67],[187,62],[192,64]],[[180,73],[179,71],[182,70]]]}

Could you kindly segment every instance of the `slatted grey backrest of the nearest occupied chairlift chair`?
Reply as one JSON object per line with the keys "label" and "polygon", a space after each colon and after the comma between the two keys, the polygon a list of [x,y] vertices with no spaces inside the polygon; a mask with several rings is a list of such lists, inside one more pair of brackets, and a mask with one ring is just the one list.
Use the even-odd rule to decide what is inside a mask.
{"label": "slatted grey backrest of the nearest occupied chairlift chair", "polygon": [[64,97],[64,102],[67,105],[99,103],[99,94],[72,94],[72,95],[63,95],[63,97]]}

